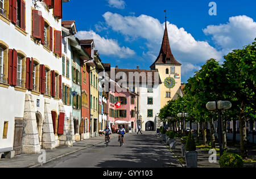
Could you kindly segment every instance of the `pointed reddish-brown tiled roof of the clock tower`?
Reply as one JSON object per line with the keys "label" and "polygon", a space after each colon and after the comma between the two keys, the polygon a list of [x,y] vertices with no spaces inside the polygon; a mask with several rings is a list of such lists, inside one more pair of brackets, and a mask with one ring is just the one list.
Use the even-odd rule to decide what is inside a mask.
{"label": "pointed reddish-brown tiled roof of the clock tower", "polygon": [[167,31],[167,22],[166,22],[166,28],[164,29],[164,36],[163,36],[163,41],[162,41],[162,46],[160,49],[159,56],[158,58],[156,58],[156,61],[151,65],[151,67],[159,63],[170,64],[170,65],[181,65],[178,61],[176,61],[171,51],[171,46],[170,46],[170,41],[169,41],[168,31]]}

